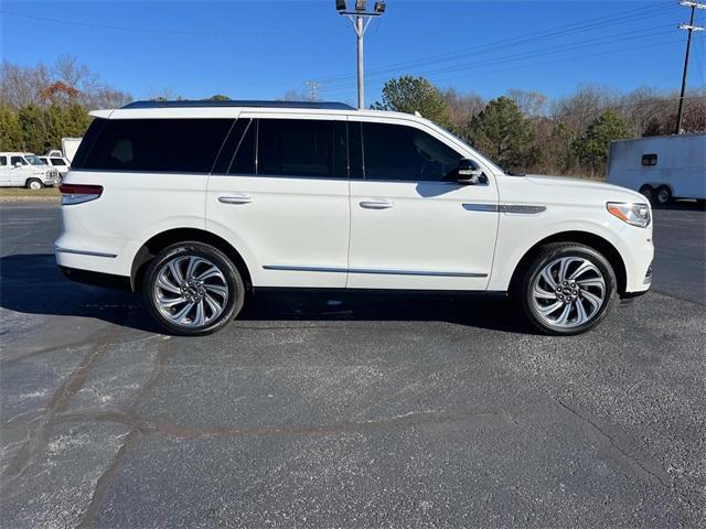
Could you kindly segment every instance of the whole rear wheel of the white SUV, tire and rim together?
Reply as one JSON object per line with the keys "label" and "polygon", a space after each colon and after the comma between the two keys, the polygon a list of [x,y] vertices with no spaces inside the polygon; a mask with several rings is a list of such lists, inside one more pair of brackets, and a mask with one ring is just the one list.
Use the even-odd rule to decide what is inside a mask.
{"label": "whole rear wheel of the white SUV, tire and rim together", "polygon": [[243,309],[245,287],[221,250],[202,242],[172,245],[150,262],[143,283],[148,311],[172,334],[211,334]]}

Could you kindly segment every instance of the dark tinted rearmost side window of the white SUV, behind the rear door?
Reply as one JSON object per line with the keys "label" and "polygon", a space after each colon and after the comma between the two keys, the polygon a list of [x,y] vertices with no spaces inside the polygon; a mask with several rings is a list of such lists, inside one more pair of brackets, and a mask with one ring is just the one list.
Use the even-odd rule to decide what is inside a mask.
{"label": "dark tinted rearmost side window of the white SUV, behind the rear door", "polygon": [[208,173],[232,125],[231,119],[105,120],[85,159],[76,153],[73,169]]}

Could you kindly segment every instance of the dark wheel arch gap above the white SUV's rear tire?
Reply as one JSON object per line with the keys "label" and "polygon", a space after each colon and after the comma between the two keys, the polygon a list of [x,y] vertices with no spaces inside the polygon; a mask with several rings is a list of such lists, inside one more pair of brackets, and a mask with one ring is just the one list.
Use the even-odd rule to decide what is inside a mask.
{"label": "dark wheel arch gap above the white SUV's rear tire", "polygon": [[245,259],[243,259],[240,252],[227,240],[203,229],[173,228],[152,236],[140,247],[140,249],[135,255],[135,258],[132,259],[132,267],[130,270],[130,287],[132,291],[138,291],[142,287],[142,278],[145,277],[145,271],[147,270],[149,262],[154,258],[154,256],[157,256],[168,246],[188,240],[204,242],[223,251],[226,256],[228,256],[228,258],[233,261],[235,267],[240,272],[243,282],[245,283],[246,288],[249,289],[253,285],[250,272],[247,264],[245,263]]}

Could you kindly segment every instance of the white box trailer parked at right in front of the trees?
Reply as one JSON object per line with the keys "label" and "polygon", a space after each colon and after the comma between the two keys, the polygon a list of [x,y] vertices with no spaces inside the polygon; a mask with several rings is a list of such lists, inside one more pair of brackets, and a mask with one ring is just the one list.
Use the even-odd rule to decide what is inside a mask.
{"label": "white box trailer parked at right in front of the trees", "polygon": [[606,180],[652,203],[706,198],[706,133],[654,136],[610,143]]}

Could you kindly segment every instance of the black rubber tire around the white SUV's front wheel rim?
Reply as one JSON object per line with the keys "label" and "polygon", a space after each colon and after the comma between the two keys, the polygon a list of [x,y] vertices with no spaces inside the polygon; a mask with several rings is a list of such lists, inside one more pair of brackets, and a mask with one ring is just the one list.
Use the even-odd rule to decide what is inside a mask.
{"label": "black rubber tire around the white SUV's front wheel rim", "polygon": [[[534,300],[534,287],[535,282],[538,281],[538,276],[545,267],[565,257],[577,257],[589,261],[600,271],[605,282],[603,301],[600,307],[590,315],[588,321],[575,326],[557,326],[547,323],[535,306]],[[578,242],[553,242],[543,247],[530,266],[524,269],[513,294],[525,317],[537,331],[555,336],[571,336],[593,328],[606,317],[614,302],[616,289],[616,273],[608,260],[599,251]],[[579,290],[579,296],[585,295],[582,291]],[[550,303],[552,301],[547,301],[547,305]],[[578,317],[575,319],[578,321]]]}

